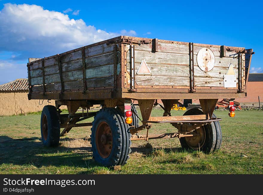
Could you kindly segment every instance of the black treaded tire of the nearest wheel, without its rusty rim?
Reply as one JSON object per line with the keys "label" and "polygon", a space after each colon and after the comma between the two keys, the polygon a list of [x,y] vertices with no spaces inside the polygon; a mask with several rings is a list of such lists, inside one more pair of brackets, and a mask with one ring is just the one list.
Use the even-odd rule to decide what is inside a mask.
{"label": "black treaded tire of the nearest wheel, without its rusty rim", "polygon": [[[107,158],[100,156],[96,146],[96,131],[98,125],[105,121],[112,132],[112,149]],[[124,165],[131,152],[131,134],[129,126],[125,123],[123,114],[115,108],[103,108],[94,117],[91,128],[91,146],[93,157],[97,163],[103,166]]]}

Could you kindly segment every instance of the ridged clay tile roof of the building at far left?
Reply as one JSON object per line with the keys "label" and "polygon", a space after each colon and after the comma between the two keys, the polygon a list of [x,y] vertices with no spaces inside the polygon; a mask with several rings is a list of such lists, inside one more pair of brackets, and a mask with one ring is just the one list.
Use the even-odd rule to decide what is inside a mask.
{"label": "ridged clay tile roof of the building at far left", "polygon": [[9,83],[0,85],[0,91],[26,91],[28,90],[27,79],[16,79]]}

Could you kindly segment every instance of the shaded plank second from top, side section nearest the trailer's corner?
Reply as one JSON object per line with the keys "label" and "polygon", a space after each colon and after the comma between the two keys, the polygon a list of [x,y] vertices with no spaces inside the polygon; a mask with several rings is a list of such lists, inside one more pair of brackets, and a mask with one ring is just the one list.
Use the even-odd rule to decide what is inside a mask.
{"label": "shaded plank second from top, side section nearest the trailer's corner", "polygon": [[106,65],[106,64],[114,64],[114,54],[113,52],[97,55],[94,57],[87,57],[85,59],[86,62],[86,68],[96,67],[100,65]]}

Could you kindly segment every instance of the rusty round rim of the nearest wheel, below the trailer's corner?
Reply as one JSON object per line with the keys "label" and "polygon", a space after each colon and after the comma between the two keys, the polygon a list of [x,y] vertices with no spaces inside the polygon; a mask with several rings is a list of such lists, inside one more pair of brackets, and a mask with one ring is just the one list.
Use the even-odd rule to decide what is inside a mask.
{"label": "rusty round rim of the nearest wheel, below the trailer's corner", "polygon": [[102,158],[107,158],[112,150],[112,132],[108,123],[100,122],[96,130],[96,146]]}

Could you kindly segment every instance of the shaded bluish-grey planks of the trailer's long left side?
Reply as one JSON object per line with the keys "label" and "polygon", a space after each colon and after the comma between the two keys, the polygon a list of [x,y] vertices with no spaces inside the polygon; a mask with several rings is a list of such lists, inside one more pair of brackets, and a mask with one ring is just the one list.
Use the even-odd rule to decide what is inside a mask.
{"label": "shaded bluish-grey planks of the trailer's long left side", "polygon": [[[88,88],[114,86],[114,44],[85,48],[86,82]],[[65,91],[83,91],[82,49],[59,55]],[[120,52],[117,52],[117,72],[120,72]],[[61,91],[57,56],[44,58],[46,92]],[[43,92],[42,62],[30,66],[33,92]]]}

